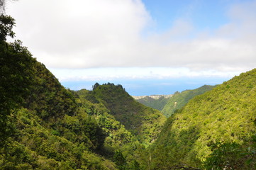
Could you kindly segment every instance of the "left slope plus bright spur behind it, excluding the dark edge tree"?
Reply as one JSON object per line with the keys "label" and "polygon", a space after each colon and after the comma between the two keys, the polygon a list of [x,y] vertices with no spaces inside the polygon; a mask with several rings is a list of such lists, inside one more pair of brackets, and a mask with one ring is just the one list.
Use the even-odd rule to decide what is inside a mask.
{"label": "left slope plus bright spur behind it, excluding the dark edge tree", "polygon": [[[13,134],[0,148],[1,168],[133,167],[144,147],[106,106],[80,98],[77,92],[65,89],[43,64],[32,57],[29,60],[33,60],[29,93],[9,116]],[[83,92],[87,94],[80,91],[81,96]],[[123,157],[125,165],[118,164],[121,158],[114,157],[116,154]]]}

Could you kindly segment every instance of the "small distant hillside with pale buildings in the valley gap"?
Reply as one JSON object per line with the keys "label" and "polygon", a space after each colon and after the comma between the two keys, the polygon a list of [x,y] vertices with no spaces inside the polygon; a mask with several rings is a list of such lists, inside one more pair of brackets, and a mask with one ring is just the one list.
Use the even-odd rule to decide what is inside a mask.
{"label": "small distant hillside with pale buildings in the valley gap", "polygon": [[167,101],[169,98],[165,98],[164,96],[160,98],[151,98],[149,96],[145,96],[145,98],[140,98],[137,101],[142,103],[145,106],[148,106],[150,108],[155,108],[158,111],[162,111],[162,109],[165,107]]}

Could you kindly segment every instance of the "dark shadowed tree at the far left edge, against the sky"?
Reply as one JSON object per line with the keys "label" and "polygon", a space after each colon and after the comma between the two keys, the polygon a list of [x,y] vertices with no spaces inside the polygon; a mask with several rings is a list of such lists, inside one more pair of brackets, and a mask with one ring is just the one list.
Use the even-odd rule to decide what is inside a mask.
{"label": "dark shadowed tree at the far left edge, against the sky", "polygon": [[9,43],[13,38],[15,21],[11,16],[0,16],[0,147],[11,135],[9,117],[16,108],[22,106],[32,83],[33,63],[30,52],[20,40]]}

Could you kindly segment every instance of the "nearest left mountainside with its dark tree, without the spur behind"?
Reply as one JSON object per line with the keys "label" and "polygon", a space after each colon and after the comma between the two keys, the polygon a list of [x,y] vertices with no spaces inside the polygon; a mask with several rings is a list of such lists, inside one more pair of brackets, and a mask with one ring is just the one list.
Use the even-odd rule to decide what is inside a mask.
{"label": "nearest left mountainside with its dark tree, without the spur behind", "polygon": [[[11,18],[1,16],[1,24]],[[2,33],[2,32],[1,32]],[[104,132],[21,42],[1,41],[1,169],[88,169]]]}

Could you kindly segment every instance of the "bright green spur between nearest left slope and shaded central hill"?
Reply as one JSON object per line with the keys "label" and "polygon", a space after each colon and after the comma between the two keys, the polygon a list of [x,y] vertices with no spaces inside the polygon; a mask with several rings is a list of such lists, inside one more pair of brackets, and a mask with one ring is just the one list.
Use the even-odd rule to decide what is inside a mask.
{"label": "bright green spur between nearest left slope and shaded central hill", "polygon": [[[132,167],[134,159],[138,159],[139,155],[145,147],[138,142],[131,132],[118,122],[110,111],[102,103],[91,103],[84,98],[87,97],[89,91],[77,91],[77,103],[81,112],[86,112],[91,117],[95,118],[98,125],[104,131],[106,139],[104,146],[101,147],[99,153],[103,154],[108,159],[113,159],[116,151],[121,152],[123,157],[126,157],[127,166]],[[132,169],[132,168],[131,168]]]}

